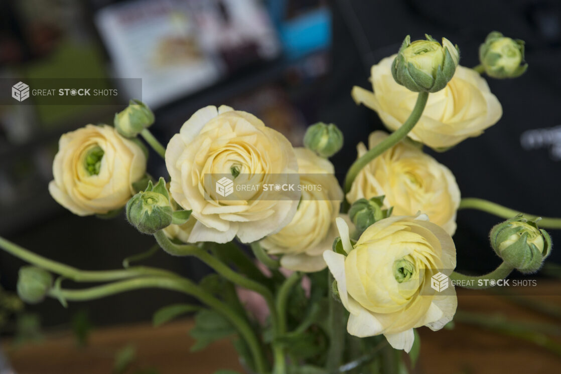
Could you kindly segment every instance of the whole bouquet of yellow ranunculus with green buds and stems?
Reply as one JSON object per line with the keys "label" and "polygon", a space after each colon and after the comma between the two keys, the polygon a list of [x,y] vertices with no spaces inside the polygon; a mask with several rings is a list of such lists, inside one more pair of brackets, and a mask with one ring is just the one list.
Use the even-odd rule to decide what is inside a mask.
{"label": "whole bouquet of yellow ranunculus with green buds and stems", "polygon": [[[174,290],[201,304],[164,306],[157,324],[195,312],[194,348],[232,338],[247,372],[407,371],[419,355],[416,329],[440,330],[453,320],[455,285],[486,288],[514,269],[537,271],[551,252],[538,224],[561,228],[559,219],[462,199],[453,173],[423,152],[479,136],[501,117],[481,74],[521,75],[524,44],[491,33],[480,61],[460,66],[457,46],[427,35],[407,36],[396,55],[373,66],[373,91],[354,87],[352,98],[393,132],[358,144],[342,187],[328,160],[343,144],[334,124],[310,126],[305,147],[294,148],[250,113],[208,106],[164,148],[148,130],[153,113],[133,100],[114,126],[66,133],[54,158],[53,198],[80,216],[116,216],[124,207],[157,244],[123,269],[88,271],[0,238],[0,247],[31,264],[20,270],[20,297],[66,306],[129,290]],[[168,179],[146,173],[140,138],[165,159]],[[458,209],[507,219],[490,232],[503,262],[489,274],[454,271]],[[132,264],[159,250],[196,257],[215,273],[196,283]],[[68,289],[63,281],[99,285]]]}

